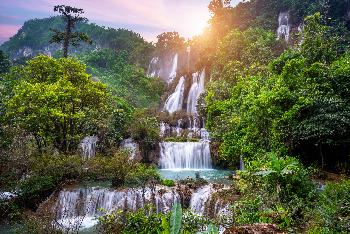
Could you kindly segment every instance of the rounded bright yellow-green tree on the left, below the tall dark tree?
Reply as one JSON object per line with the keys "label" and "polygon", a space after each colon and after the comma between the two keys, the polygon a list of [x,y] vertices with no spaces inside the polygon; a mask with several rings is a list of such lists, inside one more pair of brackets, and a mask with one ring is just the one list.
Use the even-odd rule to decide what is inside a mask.
{"label": "rounded bright yellow-green tree on the left, below the tall dark tree", "polygon": [[35,137],[39,149],[54,145],[72,152],[86,135],[95,134],[107,115],[106,86],[94,82],[75,59],[38,56],[7,77],[21,77],[5,101],[6,120]]}

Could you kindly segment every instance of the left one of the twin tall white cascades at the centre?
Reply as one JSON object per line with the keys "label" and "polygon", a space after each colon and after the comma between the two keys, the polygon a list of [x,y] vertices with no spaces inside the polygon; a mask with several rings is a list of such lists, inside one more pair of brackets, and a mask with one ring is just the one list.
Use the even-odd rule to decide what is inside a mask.
{"label": "left one of the twin tall white cascades at the centre", "polygon": [[171,94],[165,102],[165,110],[174,113],[182,109],[182,103],[185,91],[185,78],[181,77],[176,86],[175,92]]}

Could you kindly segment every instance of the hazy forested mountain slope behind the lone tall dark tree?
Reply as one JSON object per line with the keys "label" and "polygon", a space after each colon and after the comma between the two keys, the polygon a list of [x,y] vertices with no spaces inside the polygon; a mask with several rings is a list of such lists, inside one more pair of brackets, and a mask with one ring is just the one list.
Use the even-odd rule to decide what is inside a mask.
{"label": "hazy forested mountain slope behind the lone tall dark tree", "polygon": [[[38,55],[59,57],[62,46],[50,43],[54,32],[63,30],[65,22],[60,16],[34,19],[0,46],[15,64],[22,64]],[[162,91],[155,88],[157,80],[148,79],[145,70],[154,46],[139,34],[127,29],[113,29],[80,22],[75,31],[86,33],[92,44],[81,43],[70,47],[70,53],[87,65],[88,72],[109,85],[112,92],[134,106],[157,103]],[[135,95],[136,94],[136,95]]]}

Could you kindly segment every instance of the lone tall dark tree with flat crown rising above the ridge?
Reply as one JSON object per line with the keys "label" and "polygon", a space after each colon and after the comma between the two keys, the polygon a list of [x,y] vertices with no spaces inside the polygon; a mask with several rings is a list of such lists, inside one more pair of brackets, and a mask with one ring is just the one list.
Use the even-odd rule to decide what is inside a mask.
{"label": "lone tall dark tree with flat crown rising above the ridge", "polygon": [[81,32],[73,32],[75,25],[78,22],[87,22],[87,18],[81,17],[84,13],[83,9],[74,8],[65,5],[57,5],[54,11],[58,11],[66,22],[64,32],[53,29],[51,43],[63,43],[63,57],[68,57],[68,49],[70,45],[78,46],[80,41],[91,44],[92,41],[87,34]]}

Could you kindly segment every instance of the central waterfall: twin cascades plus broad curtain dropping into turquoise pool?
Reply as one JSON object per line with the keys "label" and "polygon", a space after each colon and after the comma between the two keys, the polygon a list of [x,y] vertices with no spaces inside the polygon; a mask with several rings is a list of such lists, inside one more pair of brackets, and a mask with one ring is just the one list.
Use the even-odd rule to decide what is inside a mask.
{"label": "central waterfall: twin cascades plus broad curtain dropping into turquoise pool", "polygon": [[[175,132],[179,137],[186,130],[187,137],[199,137],[198,142],[161,142],[160,160],[161,169],[167,170],[204,170],[212,169],[208,134],[200,128],[197,114],[198,98],[204,93],[205,71],[192,74],[191,88],[187,98],[187,110],[189,126],[183,129],[182,119],[178,120],[178,126],[171,128],[169,124],[161,123],[161,137]],[[173,94],[165,102],[164,109],[170,114],[183,110],[185,77],[181,77]]]}

